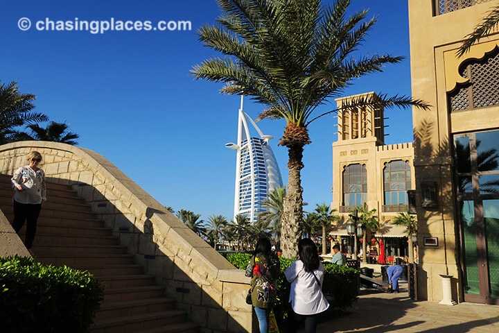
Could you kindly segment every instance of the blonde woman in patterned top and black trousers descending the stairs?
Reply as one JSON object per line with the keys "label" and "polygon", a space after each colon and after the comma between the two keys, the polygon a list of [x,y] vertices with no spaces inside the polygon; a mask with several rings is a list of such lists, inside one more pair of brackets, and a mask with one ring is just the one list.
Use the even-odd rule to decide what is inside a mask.
{"label": "blonde woman in patterned top and black trousers descending the stairs", "polygon": [[28,165],[20,167],[11,178],[14,190],[14,221],[12,228],[19,232],[26,221],[24,245],[33,246],[42,202],[46,200],[45,173],[40,167],[42,155],[37,151],[28,154]]}

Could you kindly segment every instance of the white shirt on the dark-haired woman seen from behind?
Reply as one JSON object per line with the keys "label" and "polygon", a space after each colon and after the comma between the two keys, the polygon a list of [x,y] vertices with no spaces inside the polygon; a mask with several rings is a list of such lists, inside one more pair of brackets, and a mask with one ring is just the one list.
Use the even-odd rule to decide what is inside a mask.
{"label": "white shirt on the dark-haired woman seen from behind", "polygon": [[293,262],[284,272],[286,279],[291,283],[289,301],[296,314],[318,314],[329,307],[322,293],[322,280],[324,280],[322,263],[319,263],[319,268],[314,273],[321,285],[317,283],[312,272],[305,271],[301,260]]}

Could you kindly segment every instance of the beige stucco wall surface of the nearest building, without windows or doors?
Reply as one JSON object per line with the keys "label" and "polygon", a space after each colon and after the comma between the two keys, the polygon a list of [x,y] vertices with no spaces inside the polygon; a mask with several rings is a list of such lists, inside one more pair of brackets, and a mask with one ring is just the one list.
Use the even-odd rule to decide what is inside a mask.
{"label": "beige stucco wall surface of the nearest building, without windows or doors", "polygon": [[[449,116],[446,85],[450,84],[450,76],[446,71],[457,68],[450,68],[451,65],[455,67],[455,61],[446,60],[444,55],[455,52],[464,36],[473,31],[488,10],[499,6],[499,1],[493,0],[435,17],[433,1],[408,1],[412,96],[432,105],[429,111],[414,109],[412,112],[418,236],[419,239],[439,239],[437,247],[419,247],[418,297],[423,300],[441,300],[443,294],[440,275],[447,274],[453,275],[453,300],[461,301],[462,286],[456,247],[456,200],[450,149],[452,134],[464,130],[497,127],[499,116],[498,108],[455,112],[452,117]],[[490,39],[497,40],[498,35],[493,35]],[[451,58],[455,59],[455,56]],[[462,60],[459,60],[459,63]],[[421,208],[422,181],[437,182],[439,207],[435,210]]]}

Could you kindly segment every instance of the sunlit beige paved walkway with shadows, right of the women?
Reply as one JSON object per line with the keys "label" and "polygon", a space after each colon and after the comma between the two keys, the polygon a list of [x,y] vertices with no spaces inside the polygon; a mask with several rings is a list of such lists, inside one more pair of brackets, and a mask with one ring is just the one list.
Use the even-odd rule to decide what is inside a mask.
{"label": "sunlit beige paved walkway with shadows, right of the women", "polygon": [[[417,302],[408,297],[406,287],[407,284],[401,284],[401,293],[360,290],[358,302],[344,316],[319,323],[317,333],[499,332],[499,306]],[[299,332],[304,332],[304,329]]]}

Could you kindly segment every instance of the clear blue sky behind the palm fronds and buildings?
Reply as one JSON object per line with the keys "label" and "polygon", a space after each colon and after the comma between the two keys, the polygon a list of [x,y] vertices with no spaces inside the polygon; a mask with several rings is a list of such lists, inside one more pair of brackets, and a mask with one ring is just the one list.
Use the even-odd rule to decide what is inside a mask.
{"label": "clear blue sky behind the palm fronds and buildings", "polygon": [[[360,51],[406,60],[356,80],[344,96],[410,95],[408,1],[352,0],[351,11],[364,8],[378,23]],[[231,219],[236,153],[225,143],[236,141],[240,98],[189,76],[193,65],[220,56],[202,46],[196,33],[219,14],[215,0],[8,1],[0,10],[0,80],[15,80],[21,92],[35,94],[37,112],[68,123],[80,135],[78,146],[106,157],[162,205],[193,210],[204,220],[213,214]],[[24,17],[31,23],[26,31]],[[74,26],[112,19],[170,25],[166,31],[43,30],[51,22],[56,29],[58,21]],[[191,22],[191,30],[168,30],[180,21]],[[334,106],[331,101],[322,110]],[[246,99],[244,110],[255,119],[262,106]],[[388,110],[385,117],[387,144],[412,142],[410,110]],[[306,210],[332,200],[335,123],[329,116],[310,125],[312,144],[305,148],[302,171]],[[287,150],[277,146],[284,122],[258,125],[275,137],[271,145],[286,183]]]}

